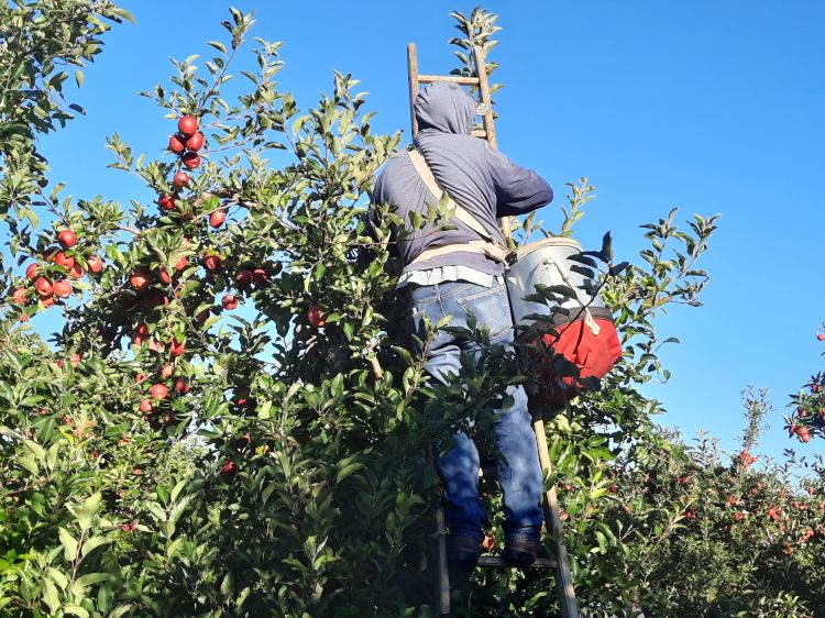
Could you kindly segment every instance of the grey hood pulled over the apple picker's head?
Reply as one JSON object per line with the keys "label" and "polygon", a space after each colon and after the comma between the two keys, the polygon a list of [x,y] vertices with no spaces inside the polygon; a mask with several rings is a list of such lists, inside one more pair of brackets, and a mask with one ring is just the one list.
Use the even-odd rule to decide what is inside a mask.
{"label": "grey hood pulled over the apple picker's head", "polygon": [[475,100],[458,84],[428,84],[414,106],[418,129],[470,135],[473,130]]}

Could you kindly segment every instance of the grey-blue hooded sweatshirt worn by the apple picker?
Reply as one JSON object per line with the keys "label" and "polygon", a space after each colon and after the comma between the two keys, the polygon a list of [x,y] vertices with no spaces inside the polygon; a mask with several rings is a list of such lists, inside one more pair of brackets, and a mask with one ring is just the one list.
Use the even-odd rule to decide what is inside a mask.
{"label": "grey-blue hooded sweatshirt worn by the apple picker", "polygon": [[[485,140],[471,135],[475,100],[460,86],[428,85],[416,97],[414,111],[419,126],[414,145],[439,185],[499,241],[504,242],[504,238],[496,218],[526,214],[553,199],[552,189],[536,172],[516,165]],[[410,212],[419,212],[426,220],[427,205],[438,206],[438,199],[421,180],[407,152],[386,164],[375,183],[372,201],[392,206],[405,224],[409,224]],[[397,243],[404,272],[469,266],[490,275],[504,273],[498,262],[461,251],[410,265],[425,250],[480,240],[461,221],[450,223],[457,229],[433,232],[425,227],[414,238]]]}

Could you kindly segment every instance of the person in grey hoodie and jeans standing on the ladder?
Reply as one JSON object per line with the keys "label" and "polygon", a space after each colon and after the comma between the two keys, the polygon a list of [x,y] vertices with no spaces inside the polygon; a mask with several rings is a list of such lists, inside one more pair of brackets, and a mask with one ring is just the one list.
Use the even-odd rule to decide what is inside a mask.
{"label": "person in grey hoodie and jeans standing on the ladder", "polygon": [[[376,180],[373,203],[391,206],[406,224],[410,212],[419,212],[426,220],[428,205],[437,207],[440,196],[428,189],[424,166],[449,197],[483,225],[487,244],[505,246],[497,218],[526,214],[552,200],[552,189],[536,172],[514,164],[486,141],[472,136],[476,103],[457,84],[429,84],[418,92],[414,112],[419,126],[414,140],[418,152],[404,152],[386,164]],[[422,161],[417,158],[419,153]],[[404,304],[402,314],[408,316],[405,328],[424,340],[425,317],[437,323],[451,316],[451,327],[466,327],[466,318],[473,313],[479,328],[490,329],[492,343],[510,346],[514,331],[504,260],[493,251],[480,251],[479,232],[463,220],[451,224],[455,229],[416,230],[394,245],[404,265],[398,298]],[[447,375],[458,375],[462,349],[468,350],[466,342],[439,331],[428,351],[427,372],[442,383]],[[473,352],[481,354],[477,347]],[[505,558],[528,565],[546,555],[540,540],[542,475],[527,396],[520,386],[510,387],[508,394],[514,405],[497,417],[493,428],[504,490]],[[460,432],[437,465],[444,486],[448,555],[453,564],[469,566],[481,553],[486,519],[479,497],[479,452]]]}

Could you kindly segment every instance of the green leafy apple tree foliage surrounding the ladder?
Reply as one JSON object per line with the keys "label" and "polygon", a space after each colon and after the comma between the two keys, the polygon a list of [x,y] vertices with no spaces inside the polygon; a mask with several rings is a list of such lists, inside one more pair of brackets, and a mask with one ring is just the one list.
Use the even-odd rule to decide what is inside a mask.
{"label": "green leafy apple tree foliage surrounding the ladder", "polygon": [[[188,183],[174,183],[180,155],[112,135],[112,166],[156,202],[46,195],[45,163],[21,144],[68,119],[55,66],[91,60],[101,20],[129,18],[91,0],[0,15],[18,51],[0,63],[25,67],[0,104],[16,119],[0,201],[20,207],[8,221],[21,261],[0,307],[0,615],[432,616],[433,444],[469,420],[485,442],[506,385],[538,376],[529,349],[506,353],[473,328],[459,334],[487,353],[430,385],[394,336],[389,233],[367,227],[365,205],[400,135],[372,132],[349,75],[299,108],[276,80],[279,44],[251,40],[252,15],[231,10],[201,66],[175,62],[170,85],[144,92],[206,136]],[[495,15],[454,16],[460,48],[492,48]],[[571,185],[561,231],[528,218],[519,242],[571,235],[593,191]],[[548,422],[580,603],[591,616],[822,614],[821,465],[804,493],[783,467],[750,467],[757,395],[726,464],[713,441],[688,446],[653,424],[660,405],[639,393],[668,377],[657,351],[671,341],[653,320],[697,305],[707,282],[695,263],[716,218],[674,220],[642,227],[650,247],[632,263],[614,263],[609,235],[586,255],[625,355]],[[51,346],[26,320],[57,310]],[[501,497],[484,490],[499,536]],[[553,596],[546,574],[477,573],[455,611],[552,616]]]}

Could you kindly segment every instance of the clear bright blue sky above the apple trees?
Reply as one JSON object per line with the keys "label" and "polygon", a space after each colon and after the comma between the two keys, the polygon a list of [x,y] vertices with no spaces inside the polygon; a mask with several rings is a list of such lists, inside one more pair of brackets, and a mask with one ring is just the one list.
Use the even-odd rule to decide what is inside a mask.
{"label": "clear bright blue sky above the apple trees", "polygon": [[[123,202],[151,196],[106,168],[107,135],[157,153],[172,132],[161,110],[135,96],[165,81],[168,58],[209,54],[222,36],[223,1],[122,4],[138,25],[118,27],[75,100],[87,117],[44,142],[54,179],[76,197]],[[454,66],[447,40],[452,9],[473,3],[250,2],[254,35],[284,41],[282,88],[302,107],[352,73],[378,111],[380,131],[404,129],[405,46],[422,71]],[[642,247],[638,225],[667,214],[722,213],[703,266],[712,280],[698,309],[659,320],[681,345],[664,354],[669,384],[651,388],[669,410],[660,421],[688,437],[706,429],[733,449],[741,430],[739,393],[770,388],[778,407],[763,451],[793,446],[781,428],[787,395],[822,365],[815,341],[825,313],[822,236],[825,186],[825,3],[694,0],[661,2],[490,1],[502,15],[496,97],[501,148],[534,166],[559,197],[587,176],[600,198],[579,227],[584,245],[610,230],[619,258]],[[407,132],[408,134],[408,132]],[[544,221],[558,224],[553,205]],[[41,328],[48,324],[41,322]],[[820,442],[799,453],[822,452]]]}

